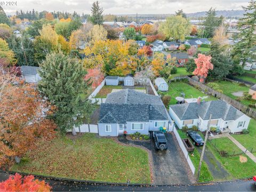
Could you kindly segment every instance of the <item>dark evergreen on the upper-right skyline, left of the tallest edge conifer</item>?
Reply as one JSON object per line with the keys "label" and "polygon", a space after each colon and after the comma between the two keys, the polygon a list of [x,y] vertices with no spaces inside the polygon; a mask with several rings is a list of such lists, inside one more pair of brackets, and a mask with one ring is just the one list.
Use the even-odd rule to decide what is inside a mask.
{"label": "dark evergreen on the upper-right skyline, left of the tallest edge conifer", "polygon": [[202,36],[205,38],[211,38],[214,35],[215,29],[221,25],[223,17],[216,17],[216,11],[211,7],[211,9],[206,12],[206,17],[204,19],[204,30]]}

